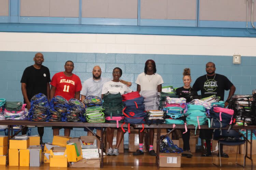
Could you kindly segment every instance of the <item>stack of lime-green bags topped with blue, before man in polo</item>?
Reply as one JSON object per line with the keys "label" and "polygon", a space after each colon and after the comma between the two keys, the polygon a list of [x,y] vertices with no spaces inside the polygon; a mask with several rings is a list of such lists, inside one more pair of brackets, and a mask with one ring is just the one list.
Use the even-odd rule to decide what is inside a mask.
{"label": "stack of lime-green bags topped with blue, before man in polo", "polygon": [[86,96],[84,99],[84,104],[86,107],[86,120],[89,123],[104,123],[105,115],[103,113],[104,108],[102,107],[102,102],[98,96]]}

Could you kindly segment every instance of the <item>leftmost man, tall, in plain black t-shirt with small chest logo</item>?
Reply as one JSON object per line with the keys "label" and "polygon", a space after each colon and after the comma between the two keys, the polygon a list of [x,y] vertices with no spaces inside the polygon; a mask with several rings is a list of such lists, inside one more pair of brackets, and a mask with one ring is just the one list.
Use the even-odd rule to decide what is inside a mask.
{"label": "leftmost man, tall, in plain black t-shirt with small chest logo", "polygon": [[[27,104],[26,108],[30,109],[31,98],[39,93],[47,96],[48,100],[50,98],[50,72],[49,69],[42,65],[44,62],[44,56],[42,53],[36,53],[33,58],[35,64],[27,67],[20,80],[22,86],[22,95],[24,98],[24,103]],[[22,134],[27,134],[28,128],[25,127],[22,130]],[[40,135],[40,143],[42,144],[42,137],[44,134],[44,127],[38,127],[38,134]]]}

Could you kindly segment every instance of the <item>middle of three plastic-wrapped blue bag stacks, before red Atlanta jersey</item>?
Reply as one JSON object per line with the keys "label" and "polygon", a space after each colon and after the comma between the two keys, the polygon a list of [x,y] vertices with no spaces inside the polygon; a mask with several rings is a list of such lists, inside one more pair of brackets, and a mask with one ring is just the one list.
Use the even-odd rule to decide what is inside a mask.
{"label": "middle of three plastic-wrapped blue bag stacks, before red Atlanta jersey", "polygon": [[55,96],[50,102],[48,121],[51,122],[66,122],[67,111],[69,108],[68,101],[62,96]]}

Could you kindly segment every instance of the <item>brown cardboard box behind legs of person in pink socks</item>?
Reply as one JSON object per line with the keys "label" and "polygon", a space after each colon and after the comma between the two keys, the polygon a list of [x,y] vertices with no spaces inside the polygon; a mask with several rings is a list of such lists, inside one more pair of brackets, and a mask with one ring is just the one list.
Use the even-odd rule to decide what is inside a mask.
{"label": "brown cardboard box behind legs of person in pink socks", "polygon": [[[143,137],[143,152],[147,152],[146,145],[147,143],[147,138],[146,138],[146,133],[144,133]],[[131,133],[129,133],[129,152],[136,152],[137,149],[139,149],[139,134],[138,130],[131,130]]]}

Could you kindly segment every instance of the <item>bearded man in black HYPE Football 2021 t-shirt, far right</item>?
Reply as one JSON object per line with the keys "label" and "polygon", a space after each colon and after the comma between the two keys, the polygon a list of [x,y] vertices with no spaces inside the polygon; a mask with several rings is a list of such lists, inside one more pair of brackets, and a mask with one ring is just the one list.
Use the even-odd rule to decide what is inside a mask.
{"label": "bearded man in black HYPE Football 2021 t-shirt, far right", "polygon": [[[197,78],[196,82],[193,85],[193,89],[195,89],[196,91],[200,90],[202,98],[216,95],[217,97],[221,97],[221,101],[224,100],[225,90],[229,90],[228,98],[224,106],[226,107],[229,103],[231,96],[234,95],[236,87],[228,80],[226,76],[216,74],[215,70],[215,64],[212,62],[208,62],[205,68],[207,74]],[[207,148],[209,148],[207,149],[207,153],[202,154],[202,156],[211,156],[210,148],[212,134],[213,130],[200,130],[199,137],[206,140]],[[223,152],[223,145],[221,145],[219,151],[221,152],[222,157],[228,157],[228,155]]]}

